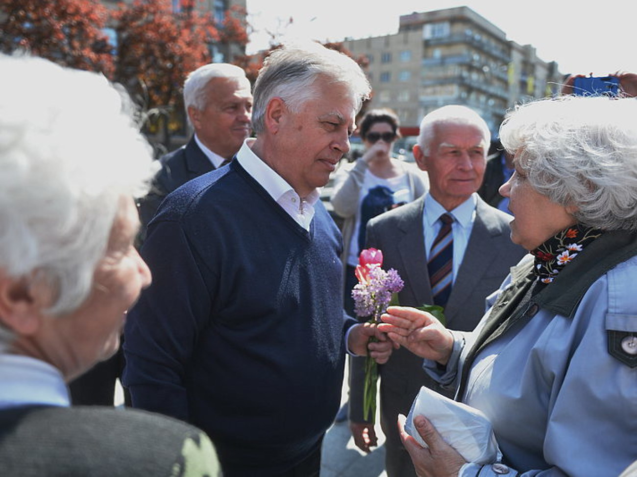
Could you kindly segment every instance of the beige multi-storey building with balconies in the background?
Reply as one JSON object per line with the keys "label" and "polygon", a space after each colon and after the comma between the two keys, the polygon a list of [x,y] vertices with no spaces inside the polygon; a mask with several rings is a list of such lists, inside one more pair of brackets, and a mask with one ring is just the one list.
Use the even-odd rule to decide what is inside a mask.
{"label": "beige multi-storey building with balconies in the background", "polygon": [[369,59],[369,107],[390,107],[404,135],[446,104],[480,114],[495,136],[506,109],[559,90],[555,62],[536,57],[466,6],[401,15],[396,34],[346,39],[345,48]]}

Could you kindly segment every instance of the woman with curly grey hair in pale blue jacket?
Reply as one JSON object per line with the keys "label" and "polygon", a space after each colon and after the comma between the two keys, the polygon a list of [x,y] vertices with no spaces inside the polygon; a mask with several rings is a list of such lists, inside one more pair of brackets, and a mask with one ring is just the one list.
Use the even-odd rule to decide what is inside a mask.
{"label": "woman with curly grey hair in pale blue jacket", "polygon": [[530,254],[473,332],[400,307],[383,331],[489,418],[502,459],[466,462],[424,416],[429,448],[404,445],[419,476],[615,477],[637,459],[637,101],[531,102],[500,135]]}

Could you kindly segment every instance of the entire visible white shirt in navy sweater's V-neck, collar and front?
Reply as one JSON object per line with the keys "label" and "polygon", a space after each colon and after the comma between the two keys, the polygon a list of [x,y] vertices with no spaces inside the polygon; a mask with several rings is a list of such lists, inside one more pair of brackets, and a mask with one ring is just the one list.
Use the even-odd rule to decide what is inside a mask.
{"label": "entire visible white shirt in navy sweater's V-neck, collar and front", "polygon": [[310,223],[314,217],[314,205],[320,197],[318,190],[313,190],[308,197],[301,198],[283,177],[276,174],[268,164],[263,162],[250,146],[254,138],[248,138],[237,153],[237,160],[241,167],[264,188],[289,216],[305,230],[310,230]]}

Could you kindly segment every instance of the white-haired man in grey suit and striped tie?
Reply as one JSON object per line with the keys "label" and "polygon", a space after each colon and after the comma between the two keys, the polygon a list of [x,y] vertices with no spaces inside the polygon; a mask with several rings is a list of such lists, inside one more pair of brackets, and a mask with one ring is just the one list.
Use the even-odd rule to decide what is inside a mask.
{"label": "white-haired man in grey suit and striped tie", "polygon": [[[511,216],[476,194],[489,142],[489,127],[467,107],[445,106],[427,114],[413,155],[429,174],[429,193],[376,217],[367,228],[368,246],[383,252],[383,268],[395,268],[405,282],[400,304],[441,305],[454,329],[475,327],[487,295],[525,254],[510,240]],[[362,415],[363,366],[364,359],[352,359],[350,429],[356,445],[369,452],[376,434]],[[422,371],[422,359],[406,349],[394,352],[379,371],[387,475],[413,477],[413,464],[397,432],[397,415],[407,415],[421,386],[447,393]]]}

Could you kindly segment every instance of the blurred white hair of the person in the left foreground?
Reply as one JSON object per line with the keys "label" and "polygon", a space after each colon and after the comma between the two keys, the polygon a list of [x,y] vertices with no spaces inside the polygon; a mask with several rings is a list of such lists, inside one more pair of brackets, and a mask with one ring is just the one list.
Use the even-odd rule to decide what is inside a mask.
{"label": "blurred white hair of the person in the left foreground", "polygon": [[0,55],[0,268],[45,280],[52,315],[87,298],[122,197],[157,168],[132,102],[104,76]]}

